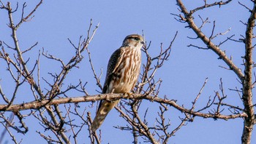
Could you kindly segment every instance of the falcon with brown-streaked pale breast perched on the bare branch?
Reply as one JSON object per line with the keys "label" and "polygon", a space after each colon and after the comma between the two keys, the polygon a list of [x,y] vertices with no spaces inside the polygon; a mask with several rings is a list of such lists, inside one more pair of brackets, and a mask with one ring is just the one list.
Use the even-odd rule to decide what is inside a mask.
{"label": "falcon with brown-streaked pale breast perched on the bare branch", "polygon": [[[108,61],[108,70],[103,87],[103,94],[129,93],[138,81],[141,63],[141,47],[144,46],[143,37],[138,34],[127,36],[122,46],[116,49]],[[110,110],[120,100],[101,100],[91,130],[95,132],[103,123]]]}

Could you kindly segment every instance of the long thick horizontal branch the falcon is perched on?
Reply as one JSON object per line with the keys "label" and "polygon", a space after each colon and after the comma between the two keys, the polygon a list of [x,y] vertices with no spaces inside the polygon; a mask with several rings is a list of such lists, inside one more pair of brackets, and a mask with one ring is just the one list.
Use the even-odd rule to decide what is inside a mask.
{"label": "long thick horizontal branch the falcon is perched on", "polygon": [[91,95],[91,96],[81,96],[81,97],[67,97],[67,98],[59,98],[54,100],[36,100],[32,101],[30,103],[22,103],[18,105],[10,105],[10,107],[7,108],[7,105],[0,105],[0,111],[23,111],[28,109],[39,109],[47,105],[59,105],[64,103],[81,103],[81,102],[94,102],[97,100],[118,100],[120,98],[124,99],[133,99],[133,100],[150,100],[151,102],[157,102],[157,103],[164,103],[170,106],[173,106],[174,108],[178,109],[178,111],[181,111],[183,113],[189,113],[194,116],[200,116],[203,118],[214,118],[214,119],[236,119],[238,117],[246,117],[245,113],[238,113],[233,115],[222,115],[220,113],[214,114],[214,113],[200,113],[197,111],[192,111],[190,109],[184,108],[181,105],[178,105],[176,103],[176,100],[167,100],[163,99],[161,97],[154,97],[151,95],[140,95],[140,94],[134,94],[134,95],[123,95],[123,94],[102,94],[102,95]]}

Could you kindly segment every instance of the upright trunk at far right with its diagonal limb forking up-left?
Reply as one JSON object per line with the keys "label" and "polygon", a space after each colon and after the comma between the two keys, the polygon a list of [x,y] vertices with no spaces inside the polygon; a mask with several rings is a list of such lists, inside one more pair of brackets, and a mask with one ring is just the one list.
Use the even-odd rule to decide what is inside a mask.
{"label": "upright trunk at far right with its diagonal limb forking up-left", "polygon": [[[226,40],[220,42],[219,45],[214,44],[212,41],[216,36],[218,36],[218,34],[214,36],[215,22],[212,28],[211,36],[206,36],[206,34],[204,34],[203,31],[201,31],[201,28],[207,22],[207,19],[202,20],[203,23],[200,27],[197,26],[193,20],[193,14],[195,12],[199,10],[207,9],[208,7],[216,7],[216,6],[221,7],[222,5],[230,3],[230,1],[232,0],[216,1],[212,4],[208,4],[207,1],[205,0],[205,4],[202,7],[197,7],[195,9],[188,11],[185,5],[182,3],[182,1],[177,0],[178,7],[180,8],[182,13],[182,15],[177,15],[177,16],[179,17],[180,22],[187,23],[189,25],[189,28],[192,28],[192,30],[197,35],[196,39],[200,39],[201,41],[203,41],[203,43],[206,44],[206,49],[210,49],[213,52],[215,52],[227,64],[228,69],[236,73],[236,75],[238,76],[238,80],[240,81],[242,86],[242,91],[238,89],[236,89],[236,91],[238,92],[239,95],[241,95],[241,100],[244,105],[244,108],[242,108],[240,111],[246,114],[246,116],[244,117],[244,130],[243,130],[243,135],[241,137],[241,143],[250,143],[250,140],[252,137],[252,129],[255,124],[255,111],[254,111],[255,105],[252,103],[252,88],[254,87],[254,84],[255,84],[252,82],[253,81],[252,69],[254,68],[254,62],[252,60],[252,52],[253,52],[253,48],[255,47],[252,44],[252,39],[255,37],[253,35],[253,28],[255,27],[255,19],[256,19],[255,1],[252,1],[253,3],[252,9],[249,9],[249,7],[246,7],[244,4],[241,4],[239,2],[241,6],[245,7],[246,9],[249,9],[249,12],[251,13],[251,15],[249,16],[248,21],[246,23],[242,22],[244,23],[244,25],[246,25],[246,31],[245,31],[245,35],[244,36],[241,35],[241,39],[238,39],[238,40],[232,39],[233,36],[230,36],[230,37],[227,37]],[[243,63],[244,73],[241,71],[240,68],[238,68],[238,66],[235,63],[233,63],[232,59],[227,57],[225,52],[222,51],[222,49],[220,49],[221,45],[227,41],[237,41],[237,42],[244,43],[245,55],[242,56],[244,59],[244,63]],[[197,47],[194,45],[190,45],[190,46]],[[197,47],[197,48],[205,49],[202,47]],[[225,98],[225,97],[222,97],[222,98]],[[236,107],[232,106],[230,108],[236,108]]]}

